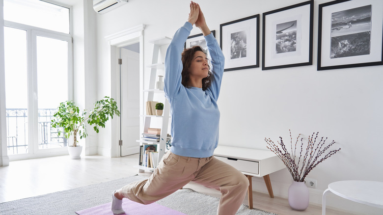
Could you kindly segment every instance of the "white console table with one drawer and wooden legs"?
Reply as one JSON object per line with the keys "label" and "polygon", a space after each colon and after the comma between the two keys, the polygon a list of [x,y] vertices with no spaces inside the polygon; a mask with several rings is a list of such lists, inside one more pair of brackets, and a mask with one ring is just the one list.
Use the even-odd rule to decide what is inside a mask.
{"label": "white console table with one drawer and wooden legs", "polygon": [[250,183],[248,187],[248,207],[253,208],[251,177],[263,177],[271,198],[274,198],[269,174],[286,168],[285,164],[268,150],[218,146],[214,157],[224,161],[244,173]]}

